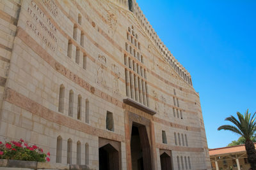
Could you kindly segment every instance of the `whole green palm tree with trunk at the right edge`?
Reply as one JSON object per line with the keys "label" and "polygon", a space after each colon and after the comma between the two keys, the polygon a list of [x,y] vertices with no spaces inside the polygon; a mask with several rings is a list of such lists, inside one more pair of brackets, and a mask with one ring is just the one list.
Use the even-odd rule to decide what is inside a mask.
{"label": "whole green palm tree with trunk at the right edge", "polygon": [[238,120],[233,116],[225,118],[225,120],[232,122],[234,125],[221,125],[218,128],[218,131],[221,129],[232,131],[245,138],[244,146],[248,156],[248,162],[253,170],[256,169],[256,152],[251,138],[256,131],[256,121],[254,117],[255,113],[251,117],[251,113],[248,113],[248,110],[244,113],[244,115],[237,111]]}

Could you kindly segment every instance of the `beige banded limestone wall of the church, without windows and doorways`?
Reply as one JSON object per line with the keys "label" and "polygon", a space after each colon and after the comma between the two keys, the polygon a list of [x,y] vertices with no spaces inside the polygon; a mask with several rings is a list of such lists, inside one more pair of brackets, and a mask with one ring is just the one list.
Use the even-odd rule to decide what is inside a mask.
{"label": "beige banded limestone wall of the church, without windows and doorways", "polygon": [[[1,3],[7,6],[5,2]],[[19,6],[15,1],[8,2]],[[18,9],[15,5],[13,11]],[[3,9],[1,12],[7,13]],[[81,24],[78,23],[79,15]],[[3,94],[5,89],[6,93],[1,107],[1,140],[24,138],[50,151],[51,161],[55,162],[56,141],[61,136],[61,160],[67,163],[67,141],[72,139],[72,164],[76,164],[77,141],[81,142],[81,162],[85,164],[85,144],[88,143],[88,166],[98,169],[98,138],[107,138],[121,143],[122,169],[127,169],[126,106],[122,100],[126,98],[126,34],[128,27],[133,26],[144,58],[141,66],[147,68],[149,108],[157,111],[154,117],[148,116],[154,123],[157,168],[160,168],[159,148],[172,150],[175,169],[177,156],[190,157],[191,169],[211,168],[209,153],[205,152],[207,141],[204,124],[200,123],[203,118],[198,94],[164,60],[136,20],[130,11],[108,1],[23,0],[17,34],[12,33],[11,43],[5,45],[12,50],[1,48],[1,57],[10,62],[8,75],[3,75],[6,83],[0,92]],[[4,23],[6,21],[1,20],[1,24]],[[1,32],[2,37],[8,31],[16,31],[16,27],[11,29],[10,25],[3,26],[7,32]],[[70,51],[68,43],[72,43]],[[79,56],[79,63],[76,56]],[[86,67],[83,57],[86,57]],[[58,111],[60,85],[65,87],[63,113]],[[70,90],[74,92],[73,117],[68,116]],[[81,120],[77,120],[79,95],[82,97]],[[179,107],[173,103],[173,97],[179,99]],[[86,100],[90,106],[89,123],[85,120]],[[182,111],[182,119],[173,116],[173,108]],[[106,130],[106,111],[113,113],[114,132]],[[167,144],[162,143],[163,130]],[[174,132],[186,134],[188,146],[175,145]]]}

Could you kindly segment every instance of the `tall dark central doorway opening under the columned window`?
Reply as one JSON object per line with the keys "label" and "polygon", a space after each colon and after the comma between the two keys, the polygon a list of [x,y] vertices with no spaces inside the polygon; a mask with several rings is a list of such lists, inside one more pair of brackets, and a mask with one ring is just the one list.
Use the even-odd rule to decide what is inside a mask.
{"label": "tall dark central doorway opening under the columned window", "polygon": [[150,143],[145,125],[132,124],[131,159],[132,170],[152,170]]}

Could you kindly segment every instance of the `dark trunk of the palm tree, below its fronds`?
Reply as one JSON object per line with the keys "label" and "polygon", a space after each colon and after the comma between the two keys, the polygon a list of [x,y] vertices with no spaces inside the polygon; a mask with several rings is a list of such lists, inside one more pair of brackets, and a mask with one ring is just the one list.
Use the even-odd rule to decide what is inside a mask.
{"label": "dark trunk of the palm tree, below its fronds", "polygon": [[253,170],[256,170],[256,152],[254,143],[249,139],[245,141],[245,150],[248,156],[248,162]]}

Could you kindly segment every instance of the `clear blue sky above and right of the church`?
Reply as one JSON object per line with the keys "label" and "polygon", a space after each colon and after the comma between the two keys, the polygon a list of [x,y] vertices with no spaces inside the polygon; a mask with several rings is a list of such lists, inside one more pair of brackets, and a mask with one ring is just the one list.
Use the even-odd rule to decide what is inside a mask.
{"label": "clear blue sky above and right of the church", "polygon": [[256,1],[137,0],[159,38],[191,73],[209,148],[239,138],[217,131],[236,111],[256,111]]}

